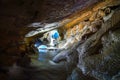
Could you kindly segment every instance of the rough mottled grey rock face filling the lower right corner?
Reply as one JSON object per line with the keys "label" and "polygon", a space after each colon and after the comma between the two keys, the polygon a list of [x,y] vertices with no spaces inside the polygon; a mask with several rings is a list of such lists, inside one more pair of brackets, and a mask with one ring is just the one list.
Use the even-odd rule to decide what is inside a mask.
{"label": "rough mottled grey rock face filling the lower right corner", "polygon": [[104,31],[100,33],[100,35],[104,33],[103,37],[98,33],[99,36],[96,36],[95,41],[95,36],[91,36],[88,41],[78,47],[78,67],[84,74],[90,74],[99,80],[111,80],[112,76],[118,73],[120,68],[119,24],[114,27],[118,27],[117,30],[108,31],[106,28],[108,33]]}

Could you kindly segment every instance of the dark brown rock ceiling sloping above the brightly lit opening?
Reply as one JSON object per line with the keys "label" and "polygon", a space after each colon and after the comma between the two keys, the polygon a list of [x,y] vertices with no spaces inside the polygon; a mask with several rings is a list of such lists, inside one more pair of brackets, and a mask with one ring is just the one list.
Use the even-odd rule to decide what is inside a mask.
{"label": "dark brown rock ceiling sloping above the brightly lit opening", "polygon": [[0,0],[1,50],[16,45],[32,22],[56,22],[101,0]]}

